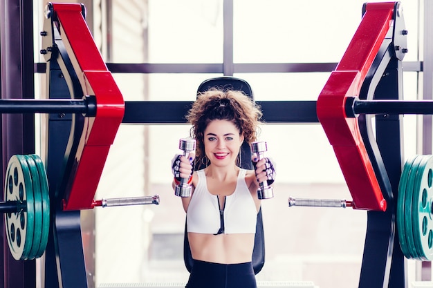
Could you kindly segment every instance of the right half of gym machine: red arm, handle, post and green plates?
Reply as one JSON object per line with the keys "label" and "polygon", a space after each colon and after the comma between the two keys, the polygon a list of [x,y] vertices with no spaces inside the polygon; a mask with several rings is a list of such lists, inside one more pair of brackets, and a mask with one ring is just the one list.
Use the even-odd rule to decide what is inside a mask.
{"label": "right half of gym machine: red arm, handle, post and green plates", "polygon": [[359,287],[407,287],[404,258],[432,260],[433,166],[432,155],[404,164],[402,115],[432,114],[433,107],[403,101],[408,32],[400,3],[365,3],[362,12],[317,99],[317,117],[353,200],[289,198],[288,205],[367,210]]}

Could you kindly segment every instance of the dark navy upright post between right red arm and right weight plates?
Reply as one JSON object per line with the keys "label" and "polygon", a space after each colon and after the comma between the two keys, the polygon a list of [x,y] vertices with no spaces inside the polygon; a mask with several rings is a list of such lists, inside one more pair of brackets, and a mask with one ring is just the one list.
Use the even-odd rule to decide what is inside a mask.
{"label": "dark navy upright post between right red arm and right weight plates", "polygon": [[[374,99],[403,99],[401,61],[392,57],[380,75]],[[367,212],[367,235],[360,288],[405,288],[407,271],[396,231],[396,202],[403,155],[402,115],[376,115],[376,142],[385,165],[391,194],[384,194],[387,211]]]}

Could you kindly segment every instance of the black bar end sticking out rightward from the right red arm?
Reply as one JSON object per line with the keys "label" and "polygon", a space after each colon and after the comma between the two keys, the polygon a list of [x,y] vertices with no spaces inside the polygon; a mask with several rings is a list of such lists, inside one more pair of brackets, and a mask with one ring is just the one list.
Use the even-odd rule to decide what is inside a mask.
{"label": "black bar end sticking out rightward from the right red arm", "polygon": [[433,115],[432,100],[360,100],[358,97],[347,97],[345,106],[347,117],[360,114]]}

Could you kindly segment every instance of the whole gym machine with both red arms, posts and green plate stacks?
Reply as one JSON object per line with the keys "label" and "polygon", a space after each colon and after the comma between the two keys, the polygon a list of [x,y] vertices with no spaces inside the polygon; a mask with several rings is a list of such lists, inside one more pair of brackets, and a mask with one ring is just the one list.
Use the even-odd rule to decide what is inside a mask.
{"label": "whole gym machine with both red arms, posts and green plate stacks", "polygon": [[[187,111],[182,102],[125,103],[93,43],[84,15],[80,4],[48,4],[41,32],[48,99],[3,99],[0,103],[1,113],[49,114],[46,167],[37,155],[13,156],[6,171],[5,187],[10,195],[0,204],[3,213],[16,214],[20,219],[6,220],[8,241],[15,245],[11,245],[14,258],[33,259],[45,252],[46,287],[86,287],[80,210],[158,204],[157,195],[132,200],[93,199],[118,126],[180,123]],[[260,103],[268,123],[322,124],[353,200],[289,198],[289,206],[367,211],[362,288],[406,287],[405,257],[432,258],[433,164],[430,156],[422,155],[403,164],[401,117],[431,115],[433,102],[403,101],[406,35],[399,2],[366,3],[360,26],[317,103]],[[161,121],[155,112],[160,108],[174,111],[172,118]],[[376,115],[375,132],[372,115]],[[12,224],[21,229],[12,229]],[[35,236],[39,234],[35,233],[36,226],[40,237]],[[20,236],[22,249],[15,242],[17,231],[25,234],[24,239]]]}

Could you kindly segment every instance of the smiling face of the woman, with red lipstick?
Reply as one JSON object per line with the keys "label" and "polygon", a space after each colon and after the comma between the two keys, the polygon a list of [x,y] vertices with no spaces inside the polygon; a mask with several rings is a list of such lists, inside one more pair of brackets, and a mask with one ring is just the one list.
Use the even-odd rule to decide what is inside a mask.
{"label": "smiling face of the woman, with red lipstick", "polygon": [[243,135],[228,120],[212,120],[204,132],[206,156],[216,166],[236,163],[242,142]]}

